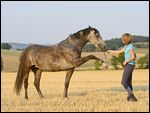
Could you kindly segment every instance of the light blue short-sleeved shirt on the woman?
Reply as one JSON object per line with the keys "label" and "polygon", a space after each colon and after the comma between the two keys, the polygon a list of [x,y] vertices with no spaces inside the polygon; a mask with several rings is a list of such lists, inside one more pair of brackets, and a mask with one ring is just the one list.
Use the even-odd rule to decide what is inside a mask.
{"label": "light blue short-sleeved shirt on the woman", "polygon": [[[125,45],[124,48],[125,48],[125,51],[124,51],[125,61],[127,61],[130,58],[130,50],[134,51],[134,47],[132,44],[129,44],[129,45]],[[135,65],[135,61],[132,60],[128,64]]]}

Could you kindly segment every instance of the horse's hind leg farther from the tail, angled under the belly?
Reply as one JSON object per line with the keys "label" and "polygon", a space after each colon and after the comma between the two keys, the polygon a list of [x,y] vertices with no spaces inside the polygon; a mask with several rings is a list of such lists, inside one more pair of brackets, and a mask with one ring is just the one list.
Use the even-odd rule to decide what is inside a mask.
{"label": "horse's hind leg farther from the tail, angled under the belly", "polygon": [[40,89],[40,79],[41,79],[42,70],[38,69],[38,68],[34,68],[34,69],[32,69],[32,71],[34,72],[34,75],[35,75],[34,85],[36,87],[36,90],[37,90],[39,96],[41,98],[43,98],[44,96],[43,96],[41,89]]}

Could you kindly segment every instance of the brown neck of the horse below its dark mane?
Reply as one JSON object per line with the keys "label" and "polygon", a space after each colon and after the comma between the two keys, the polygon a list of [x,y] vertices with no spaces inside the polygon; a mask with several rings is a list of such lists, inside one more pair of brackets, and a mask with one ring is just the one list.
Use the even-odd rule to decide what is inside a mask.
{"label": "brown neck of the horse below its dark mane", "polygon": [[60,42],[60,44],[69,48],[76,48],[81,52],[82,48],[87,42],[88,41],[86,37],[81,37],[81,36],[75,37],[72,35],[69,36],[64,41]]}

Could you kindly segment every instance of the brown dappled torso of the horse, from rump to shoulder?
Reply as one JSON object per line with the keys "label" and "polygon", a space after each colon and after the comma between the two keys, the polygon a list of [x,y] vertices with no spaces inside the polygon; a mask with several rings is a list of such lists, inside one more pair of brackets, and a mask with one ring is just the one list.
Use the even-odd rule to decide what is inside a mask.
{"label": "brown dappled torso of the horse, from rump to shoulder", "polygon": [[[59,45],[31,45],[23,53],[21,60],[42,70],[61,71],[74,67],[74,52]],[[25,58],[26,57],[26,58]]]}

